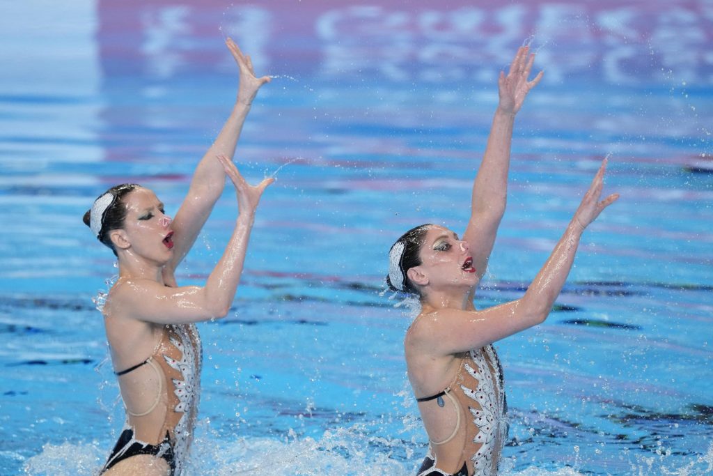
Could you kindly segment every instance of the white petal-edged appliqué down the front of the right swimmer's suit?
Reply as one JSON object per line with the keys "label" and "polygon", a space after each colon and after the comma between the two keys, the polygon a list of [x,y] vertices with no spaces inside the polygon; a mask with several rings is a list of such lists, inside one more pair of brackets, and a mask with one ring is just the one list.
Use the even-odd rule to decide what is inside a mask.
{"label": "white petal-edged appliqu\u00e9 down the front of the right swimmer's suit", "polygon": [[501,435],[501,432],[507,425],[498,360],[492,345],[488,345],[485,350],[493,366],[493,373],[496,375],[491,373],[483,350],[471,350],[471,361],[476,368],[472,368],[467,363],[464,368],[478,380],[478,388],[473,390],[461,385],[463,394],[478,402],[480,407],[470,408],[473,423],[478,427],[478,434],[473,438],[473,442],[481,444],[476,454],[471,457],[476,475],[493,473],[493,463],[497,465],[497,461],[493,461],[493,452],[496,450],[496,445],[503,444],[504,435]]}

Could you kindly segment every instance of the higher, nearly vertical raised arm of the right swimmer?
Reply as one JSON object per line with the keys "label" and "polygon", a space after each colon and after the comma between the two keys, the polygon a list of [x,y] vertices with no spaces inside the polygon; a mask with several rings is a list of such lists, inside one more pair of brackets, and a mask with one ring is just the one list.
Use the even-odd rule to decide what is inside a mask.
{"label": "higher, nearly vertical raised arm of the right swimmer", "polygon": [[520,110],[530,89],[542,79],[540,71],[533,81],[528,81],[535,61],[535,55],[528,54],[528,51],[527,46],[518,49],[508,75],[503,71],[500,73],[500,100],[483,161],[473,183],[471,218],[466,232],[463,233],[463,240],[468,242],[473,251],[473,266],[480,277],[486,272],[498,226],[505,213],[515,114]]}

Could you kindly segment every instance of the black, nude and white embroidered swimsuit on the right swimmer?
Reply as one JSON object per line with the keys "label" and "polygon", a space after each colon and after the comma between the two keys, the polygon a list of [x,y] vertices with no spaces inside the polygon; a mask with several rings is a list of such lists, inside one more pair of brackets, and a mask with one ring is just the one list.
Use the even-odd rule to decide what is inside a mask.
{"label": "black, nude and white embroidered swimsuit on the right swimmer", "polygon": [[[503,371],[495,348],[488,345],[471,350],[461,358],[453,383],[438,395],[419,399],[445,408],[445,400],[456,407],[458,420],[446,440],[431,440],[429,454],[419,476],[451,475],[439,465],[461,467],[457,475],[497,475],[501,450],[508,437],[507,402],[503,388]],[[446,397],[446,398],[443,398]],[[452,411],[452,410],[451,410]],[[461,430],[461,421],[465,420]],[[446,455],[458,453],[458,461],[445,461]]]}

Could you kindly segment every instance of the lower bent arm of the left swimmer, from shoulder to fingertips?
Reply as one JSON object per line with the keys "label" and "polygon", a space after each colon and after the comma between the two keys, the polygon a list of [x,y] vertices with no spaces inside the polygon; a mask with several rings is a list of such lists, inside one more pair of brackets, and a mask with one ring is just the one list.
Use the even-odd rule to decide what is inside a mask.
{"label": "lower bent arm of the left swimmer, from shoulder to fingertips", "polygon": [[[265,178],[251,186],[229,158],[219,156],[217,161],[235,185],[239,214],[225,252],[205,285],[169,288],[151,279],[118,280],[111,291],[111,307],[120,309],[116,314],[162,324],[194,323],[227,315],[240,283],[257,204],[275,179]],[[113,314],[111,309],[108,314]]]}

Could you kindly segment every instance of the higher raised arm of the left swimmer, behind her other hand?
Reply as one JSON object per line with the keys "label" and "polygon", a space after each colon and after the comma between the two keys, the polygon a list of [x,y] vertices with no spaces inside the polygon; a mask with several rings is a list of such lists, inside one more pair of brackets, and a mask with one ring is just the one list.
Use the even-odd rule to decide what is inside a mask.
{"label": "higher raised arm of the left swimmer, behind her other hand", "polygon": [[240,69],[240,83],[237,98],[230,116],[225,121],[215,142],[203,156],[193,173],[188,195],[180,206],[173,221],[175,235],[173,238],[173,259],[165,267],[164,278],[170,284],[175,284],[173,271],[185,258],[188,250],[198,238],[201,228],[205,224],[215,202],[220,197],[225,186],[225,171],[222,163],[216,160],[219,155],[232,158],[235,146],[240,138],[242,125],[245,123],[247,113],[250,112],[252,100],[255,99],[260,87],[270,82],[268,76],[257,78],[252,69],[250,56],[242,54],[240,48],[232,39],[225,41],[233,59]]}

